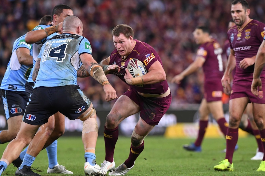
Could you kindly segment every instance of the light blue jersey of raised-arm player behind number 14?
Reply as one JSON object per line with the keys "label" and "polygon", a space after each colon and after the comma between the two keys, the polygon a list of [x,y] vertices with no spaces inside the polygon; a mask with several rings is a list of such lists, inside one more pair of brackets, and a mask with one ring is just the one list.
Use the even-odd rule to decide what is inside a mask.
{"label": "light blue jersey of raised-arm player behind number 14", "polygon": [[[43,24],[41,24],[41,25],[36,26],[34,29],[32,29],[32,31],[36,31],[36,30],[40,30],[40,29],[45,29],[45,28],[48,28],[48,27],[51,27],[51,26],[52,26],[51,24],[49,24],[49,25],[43,25]],[[47,40],[49,40],[50,38],[52,38],[55,35],[59,35],[59,33],[57,33],[57,32],[56,33],[53,33],[53,34],[49,35],[48,37],[42,39],[40,42],[33,43],[33,46],[32,46],[32,48],[33,48],[32,49],[32,51],[33,51],[33,68],[31,70],[30,75],[29,75],[29,78],[27,80],[28,82],[34,82],[32,80],[32,73],[33,73],[33,70],[34,70],[35,62],[37,60],[38,54],[41,51],[41,48],[42,48],[43,43],[45,43]]]}

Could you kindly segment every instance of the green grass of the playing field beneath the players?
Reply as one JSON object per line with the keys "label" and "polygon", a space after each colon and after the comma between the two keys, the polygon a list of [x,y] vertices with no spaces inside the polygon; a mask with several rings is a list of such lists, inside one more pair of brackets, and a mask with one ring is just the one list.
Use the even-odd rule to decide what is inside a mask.
{"label": "green grass of the playing field beneath the players", "polygon": [[[166,139],[161,136],[147,136],[144,140],[144,151],[137,158],[135,166],[127,176],[259,176],[264,172],[257,172],[260,161],[251,161],[255,155],[257,144],[253,136],[239,138],[239,150],[234,153],[233,172],[215,171],[213,167],[224,159],[225,148],[223,138],[203,141],[202,152],[188,152],[182,148],[194,139]],[[0,145],[1,155],[7,144]],[[116,167],[127,159],[129,155],[130,138],[119,137],[116,144],[114,159]],[[97,164],[105,159],[105,144],[103,137],[97,140]],[[58,162],[71,170],[75,175],[84,174],[84,148],[81,137],[61,137],[58,139]],[[37,173],[42,176],[60,175],[47,174],[48,159],[43,150],[32,165],[38,168]],[[16,168],[11,164],[2,176],[14,175]]]}

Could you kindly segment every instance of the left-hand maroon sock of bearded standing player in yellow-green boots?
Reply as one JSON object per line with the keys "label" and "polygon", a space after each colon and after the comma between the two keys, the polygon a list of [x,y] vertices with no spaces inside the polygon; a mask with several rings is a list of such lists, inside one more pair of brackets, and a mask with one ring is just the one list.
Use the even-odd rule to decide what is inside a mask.
{"label": "left-hand maroon sock of bearded standing player in yellow-green boots", "polygon": [[227,135],[225,136],[225,138],[226,138],[225,159],[228,159],[228,161],[232,163],[233,154],[235,151],[235,145],[238,140],[238,128],[233,129],[228,127]]}

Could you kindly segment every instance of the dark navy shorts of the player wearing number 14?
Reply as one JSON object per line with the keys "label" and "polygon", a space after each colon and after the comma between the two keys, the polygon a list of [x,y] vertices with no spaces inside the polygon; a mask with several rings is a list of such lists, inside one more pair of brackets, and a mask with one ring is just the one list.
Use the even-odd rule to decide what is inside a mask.
{"label": "dark navy shorts of the player wearing number 14", "polygon": [[58,111],[74,120],[90,104],[91,101],[77,85],[34,88],[23,121],[31,125],[42,125]]}

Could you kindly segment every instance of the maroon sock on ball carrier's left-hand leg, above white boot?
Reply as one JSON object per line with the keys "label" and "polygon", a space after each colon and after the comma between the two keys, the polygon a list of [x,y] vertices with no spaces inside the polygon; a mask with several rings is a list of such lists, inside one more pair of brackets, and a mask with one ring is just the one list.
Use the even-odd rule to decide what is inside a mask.
{"label": "maroon sock on ball carrier's left-hand leg, above white boot", "polygon": [[105,160],[109,162],[113,162],[113,155],[116,142],[119,137],[118,126],[115,129],[107,129],[104,126],[104,140],[105,140]]}

